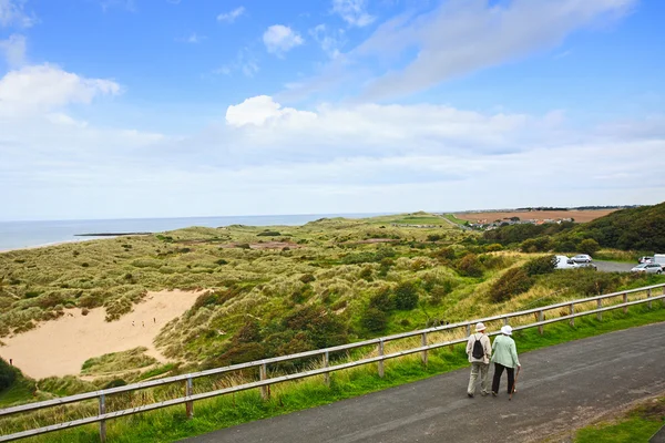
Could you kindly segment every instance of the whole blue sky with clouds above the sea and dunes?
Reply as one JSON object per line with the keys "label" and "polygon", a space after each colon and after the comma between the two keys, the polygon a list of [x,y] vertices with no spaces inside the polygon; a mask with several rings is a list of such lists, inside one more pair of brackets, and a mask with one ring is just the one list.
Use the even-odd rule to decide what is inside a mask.
{"label": "whole blue sky with clouds above the sea and dunes", "polygon": [[661,0],[0,0],[0,220],[665,198]]}

